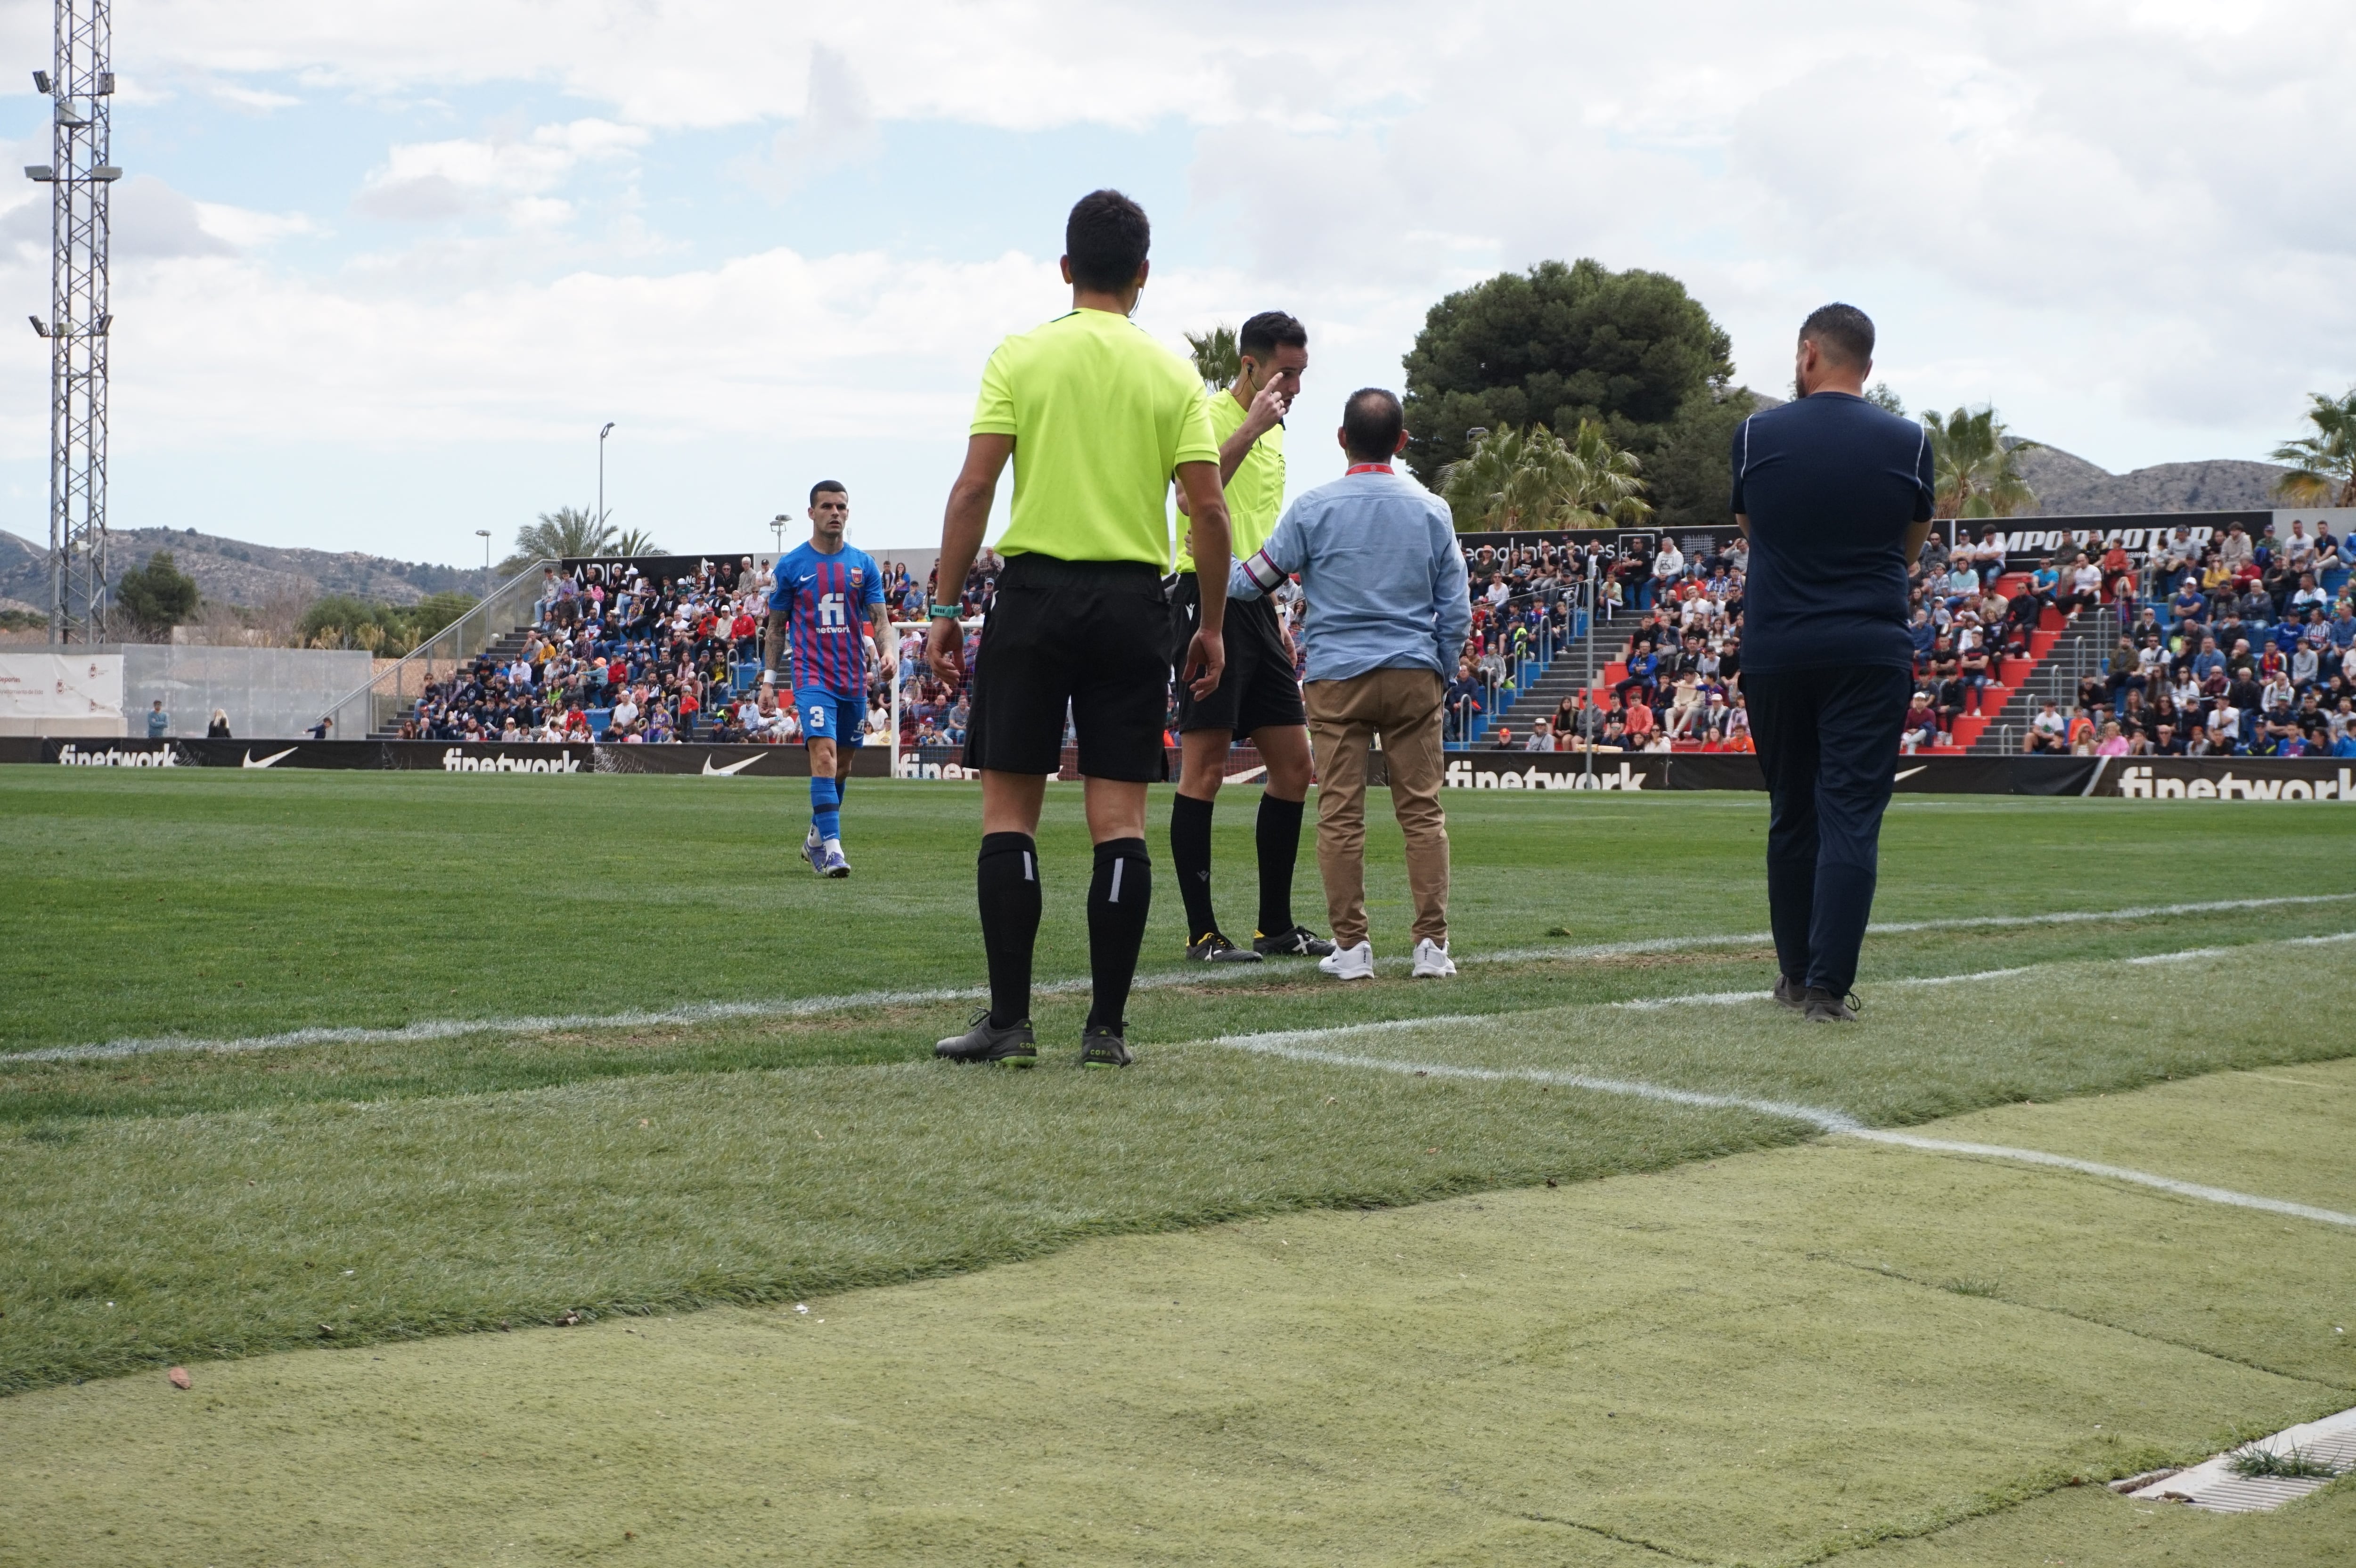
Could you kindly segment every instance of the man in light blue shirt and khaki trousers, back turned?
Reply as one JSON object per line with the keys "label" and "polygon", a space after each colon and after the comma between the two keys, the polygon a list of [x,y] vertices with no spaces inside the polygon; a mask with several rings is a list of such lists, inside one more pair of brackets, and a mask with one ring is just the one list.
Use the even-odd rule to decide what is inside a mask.
{"label": "man in light blue shirt and khaki trousers, back turned", "polygon": [[1272,593],[1301,574],[1303,702],[1317,758],[1317,871],[1336,951],[1317,968],[1338,979],[1374,975],[1366,937],[1366,749],[1381,737],[1390,808],[1407,838],[1414,895],[1414,975],[1456,972],[1449,961],[1449,831],[1440,810],[1440,735],[1447,673],[1456,669],[1472,605],[1447,504],[1390,459],[1407,445],[1399,400],[1369,386],[1343,405],[1350,471],[1296,499],[1258,553],[1237,560],[1227,593]]}

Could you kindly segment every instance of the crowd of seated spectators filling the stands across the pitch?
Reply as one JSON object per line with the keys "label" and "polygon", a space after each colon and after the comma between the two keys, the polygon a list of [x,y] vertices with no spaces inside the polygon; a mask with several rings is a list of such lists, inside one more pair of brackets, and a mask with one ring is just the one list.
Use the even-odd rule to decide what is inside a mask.
{"label": "crowd of seated spectators filling the stands across the pitch", "polygon": [[[2243,525],[2193,542],[2172,530],[2144,560],[2116,542],[2007,570],[1996,527],[1939,534],[1908,584],[1915,695],[1904,749],[1948,746],[1955,720],[1993,718],[2007,662],[2047,622],[2104,614],[2109,657],[2071,702],[2047,702],[2019,746],[2071,756],[2356,756],[2356,603],[2349,546],[2330,527]],[[982,553],[959,586],[980,619],[1001,560]],[[1621,534],[1465,546],[1472,626],[1447,690],[1451,744],[1522,751],[1748,751],[1741,695],[1748,546],[1718,534]],[[886,600],[924,622],[940,586],[884,563]],[[792,673],[761,673],[768,582],[752,558],[648,577],[629,563],[549,570],[521,650],[481,655],[424,690],[403,739],[799,742]],[[1298,589],[1277,596],[1298,629]],[[945,600],[942,600],[945,603]],[[1548,713],[1513,706],[1586,629],[1628,624],[1621,671]],[[978,633],[968,633],[968,659]],[[1296,638],[1298,643],[1298,638]],[[2019,664],[2014,664],[2019,669]],[[966,697],[900,650],[900,744],[961,746]],[[1602,676],[1602,671],[1597,671]],[[891,730],[879,690],[869,737]],[[1510,711],[1508,711],[1510,709]],[[1527,725],[1527,727],[1522,727]],[[1176,744],[1176,737],[1171,737]]]}

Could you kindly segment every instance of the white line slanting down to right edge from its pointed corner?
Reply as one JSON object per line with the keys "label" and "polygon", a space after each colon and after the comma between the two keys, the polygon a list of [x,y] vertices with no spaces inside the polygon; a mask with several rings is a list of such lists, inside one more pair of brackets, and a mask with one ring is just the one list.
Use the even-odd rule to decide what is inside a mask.
{"label": "white line slanting down to right edge from its pointed corner", "polygon": [[[2356,932],[2349,935],[2356,937]],[[1958,975],[1955,979],[1967,979],[1967,977]],[[1767,994],[1760,991],[1758,996]],[[1597,1095],[1628,1095],[1633,1099],[1652,1099],[1656,1104],[1685,1104],[1710,1111],[1755,1111],[1760,1116],[1798,1121],[1833,1137],[1861,1137],[1866,1142],[1894,1144],[1901,1149],[1922,1149],[1932,1154],[1967,1154],[1977,1158],[2014,1161],[2021,1165],[2045,1165],[2052,1170],[2076,1170],[2080,1175],[2094,1175],[2113,1182],[2132,1182],[2137,1187],[2151,1187],[2158,1191],[2175,1194],[2179,1198],[2201,1198],[2203,1203],[2255,1208],[2269,1215],[2290,1215],[2297,1220],[2316,1220],[2321,1224],[2340,1224],[2356,1229],[2356,1215],[2342,1215],[2340,1210],[2332,1208],[2314,1208],[2309,1203],[2290,1203],[2285,1198],[2262,1198],[2250,1191],[2233,1191],[2231,1187],[2203,1187],[2201,1182],[2179,1182],[2177,1177],[2156,1175],[2151,1170],[2130,1170],[2125,1165],[2076,1161],[2069,1158],[2066,1154],[2045,1154],[2043,1149],[2012,1149],[2007,1144],[1967,1144],[1944,1137],[1922,1137],[1918,1132],[1868,1128],[1847,1111],[1833,1111],[1812,1104],[1793,1104],[1788,1099],[1755,1099],[1751,1095],[1680,1090],[1666,1083],[1644,1083],[1640,1078],[1597,1078],[1593,1074],[1564,1074],[1543,1067],[1458,1067],[1454,1062],[1399,1062],[1392,1057],[1366,1057],[1341,1050],[1317,1050],[1310,1043],[1310,1041],[1338,1041],[1355,1034],[1395,1034],[1402,1029],[1421,1029],[1430,1024],[1437,1026],[1487,1024],[1496,1022],[1496,1017],[1498,1015],[1472,1012],[1456,1017],[1399,1019],[1388,1024],[1343,1024],[1336,1029],[1284,1029],[1277,1034],[1230,1034],[1204,1043],[1223,1045],[1227,1050],[1244,1050],[1263,1057],[1279,1057],[1286,1062],[1312,1062],[1319,1067],[1355,1067],[1364,1071],[1399,1074],[1411,1078],[1470,1078],[1477,1083],[1546,1083],[1560,1088],[1590,1090]]]}

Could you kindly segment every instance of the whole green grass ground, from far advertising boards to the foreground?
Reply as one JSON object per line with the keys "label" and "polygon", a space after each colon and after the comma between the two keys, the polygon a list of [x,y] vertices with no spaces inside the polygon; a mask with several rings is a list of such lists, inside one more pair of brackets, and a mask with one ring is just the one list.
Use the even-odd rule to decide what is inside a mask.
{"label": "whole green grass ground, from far advertising boards to the foreground", "polygon": [[[2012,1107],[1993,1111],[2012,1118],[1996,1132],[1955,1137],[2351,1210],[2351,1090],[2321,1062],[2349,1052],[2330,998],[2356,979],[2356,942],[2314,939],[2356,930],[2356,899],[1885,932],[1868,942],[1859,1031],[1762,1003],[1630,1010],[1619,1003],[1772,979],[1760,944],[1689,946],[1765,928],[1762,803],[1463,793],[1449,800],[1456,949],[1520,961],[1352,989],[1308,965],[1180,975],[1164,885],[1157,984],[1131,1010],[1140,1067],[1067,1071],[1084,998],[1065,991],[1039,1008],[1048,1067],[985,1074],[928,1059],[966,1003],[909,998],[980,979],[961,786],[855,784],[851,883],[808,878],[792,859],[801,798],[747,779],[24,768],[0,770],[0,800],[16,1001],[0,1012],[0,1389],[16,1389],[0,1398],[0,1455],[14,1455],[0,1471],[45,1462],[14,1516],[0,1504],[0,1561],[21,1540],[40,1542],[24,1561],[155,1556],[132,1549],[118,1497],[148,1460],[177,1467],[181,1519],[217,1519],[191,1537],[205,1561],[492,1561],[509,1540],[530,1544],[499,1561],[570,1561],[620,1552],[620,1530],[660,1561],[1616,1563],[1666,1549],[1732,1563],[1922,1530],[2007,1561],[2139,1519],[2014,1507],[2069,1474],[2191,1457],[2219,1434],[2347,1406],[2356,1387],[2347,1335],[2318,1337],[2356,1328],[2330,1307],[2349,1295],[2351,1238],[2307,1222],[2059,1172],[2005,1168],[1981,1189],[1958,1175],[1974,1165],[1913,1151],[1774,1151],[1814,1130],[1758,1109],[1213,1043],[1388,1024],[1317,1048],[1637,1078],[1866,1123]],[[1077,808],[1077,791],[1051,791],[1044,982],[1084,975]],[[1220,822],[1220,909],[1242,925],[1249,793]],[[1404,883],[1395,845],[1374,841],[1376,949],[1397,954]],[[2351,841],[2356,815],[2335,805],[1904,798],[1878,916],[2347,895]],[[1628,942],[1654,949],[1541,951]],[[2219,951],[2130,963],[2189,949]],[[1911,984],[1979,970],[2021,972]],[[813,1003],[860,991],[900,1001]],[[794,998],[815,1010],[773,1005]],[[664,1015],[714,1001],[759,1005]],[[521,1015],[575,1022],[26,1055]],[[2259,1071],[2120,1099],[2219,1069]],[[1581,1208],[1612,1203],[1630,1227],[1692,1231],[1694,1250]],[[1746,1238],[1736,1220],[1765,1229]],[[1272,1227],[1315,1227],[1343,1271],[1270,1295],[1246,1253]],[[1366,1227],[1392,1227],[1383,1245],[1404,1269],[1376,1278],[1381,1257],[1343,1241],[1376,1236]],[[1908,1227],[1955,1245],[1908,1250]],[[1291,1229],[1275,1241],[1301,1245]],[[1458,1245],[1487,1260],[1489,1285],[1444,1297]],[[1164,1323],[1152,1281],[1171,1269],[1187,1311]],[[1418,1295],[1430,1281],[1440,1293]],[[862,1288],[879,1290],[841,1295]],[[867,1302],[876,1330],[858,1356],[792,1361],[820,1340],[768,1304],[810,1297],[827,1328],[851,1323],[832,1302]],[[671,1321],[716,1302],[737,1307]],[[565,1318],[580,1326],[448,1337]],[[1882,1318],[1885,1340],[1857,1340]],[[1498,1354],[1581,1335],[1649,1380],[1652,1448],[1623,1446],[1616,1424],[1602,1446],[1564,1424],[1595,1394],[1567,1361]],[[1918,1366],[1955,1335],[1970,1370]],[[1826,1349],[1852,1340],[1854,1366]],[[686,1358],[636,1358],[657,1342]],[[1220,1401],[1173,1403],[1152,1368],[1194,1368],[1202,1342],[1260,1349]],[[153,1373],[59,1387],[172,1361],[203,1398]],[[1833,1387],[1878,1410],[1871,1441],[1791,1436]],[[1908,1387],[1918,1408],[1901,1410]],[[702,1403],[669,1410],[686,1389]],[[2104,1429],[2125,1422],[2132,1441],[2087,1448],[2059,1420],[2099,1398],[2125,1401]],[[1734,1427],[1710,1427],[1729,1410]],[[834,1431],[843,1422],[865,1436]],[[1939,1439],[1941,1422],[1965,1436]],[[1783,1434],[1765,1460],[1727,1436],[1753,1429]],[[551,1450],[549,1431],[575,1436]],[[573,1453],[582,1431],[598,1434],[596,1464]],[[1129,1457],[1107,1460],[1091,1434]],[[1220,1448],[1218,1434],[1251,1441]],[[165,1448],[127,1464],[141,1443]],[[269,1474],[302,1443],[335,1474],[351,1457],[349,1519],[384,1526],[368,1549],[294,1493],[221,1490],[188,1469]],[[794,1443],[815,1469],[780,1490],[761,1455]],[[1004,1483],[1013,1502],[907,1490],[999,1443],[1030,1453]],[[1595,1457],[1541,1464],[1520,1511],[1494,1488],[1463,1493],[1529,1471],[1529,1453]],[[1190,1455],[1185,1476],[1173,1455]],[[1124,1479],[1129,1462],[1143,1469]],[[737,1516],[754,1490],[763,1514]],[[2344,1521],[2344,1493],[2269,1521],[2281,1556],[2250,1561],[2304,1561],[2309,1535],[2290,1523]],[[419,1523],[436,1497],[459,1497],[441,1511],[462,1533]],[[75,1535],[85,1504],[108,1523]],[[306,1533],[304,1516],[323,1523]],[[521,1521],[532,1528],[502,1530]],[[2170,1552],[2210,1540],[2132,1530]],[[2116,1542],[2132,1530],[2118,1523]]]}

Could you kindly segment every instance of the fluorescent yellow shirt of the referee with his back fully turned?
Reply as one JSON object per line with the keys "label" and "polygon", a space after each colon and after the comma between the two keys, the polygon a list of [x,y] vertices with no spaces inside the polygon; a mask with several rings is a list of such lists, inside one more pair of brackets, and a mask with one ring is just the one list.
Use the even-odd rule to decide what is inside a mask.
{"label": "fluorescent yellow shirt of the referee with his back fully turned", "polygon": [[999,344],[982,370],[973,433],[1015,438],[1001,556],[1162,570],[1171,471],[1218,461],[1202,377],[1110,311],[1072,311]]}

